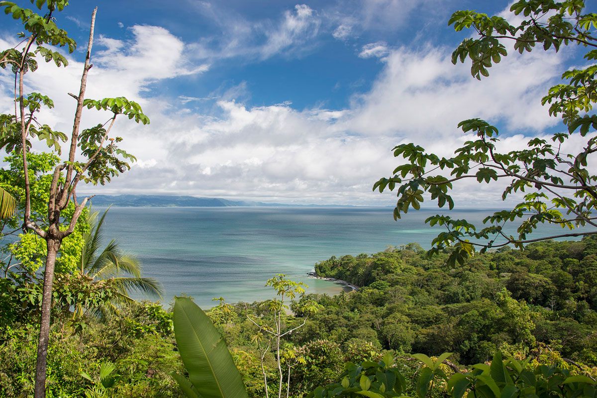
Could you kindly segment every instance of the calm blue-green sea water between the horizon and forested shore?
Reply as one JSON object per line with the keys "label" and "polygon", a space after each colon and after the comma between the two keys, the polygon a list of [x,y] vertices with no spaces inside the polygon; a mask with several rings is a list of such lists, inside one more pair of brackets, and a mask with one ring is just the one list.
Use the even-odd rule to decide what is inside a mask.
{"label": "calm blue-green sea water between the horizon and forested shore", "polygon": [[[439,229],[424,220],[436,213],[421,209],[396,222],[391,208],[114,207],[104,236],[139,257],[144,276],[164,286],[166,306],[184,293],[211,307],[220,296],[229,303],[272,297],[264,282],[276,273],[307,283],[310,292],[337,294],[342,286],[307,277],[316,262],[410,242],[429,248]],[[487,214],[450,212],[479,224]],[[542,234],[561,231],[550,227]]]}

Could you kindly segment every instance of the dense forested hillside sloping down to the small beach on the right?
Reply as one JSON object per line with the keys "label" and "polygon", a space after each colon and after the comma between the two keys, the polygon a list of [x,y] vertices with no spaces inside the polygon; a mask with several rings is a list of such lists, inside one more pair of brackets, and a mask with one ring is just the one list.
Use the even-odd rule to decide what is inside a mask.
{"label": "dense forested hillside sloping down to the small beach on the right", "polygon": [[595,238],[501,249],[455,269],[408,245],[332,257],[315,270],[362,288],[319,297],[325,310],[312,320],[312,335],[429,355],[449,351],[463,363],[484,362],[496,348],[528,353],[545,343],[597,365]]}

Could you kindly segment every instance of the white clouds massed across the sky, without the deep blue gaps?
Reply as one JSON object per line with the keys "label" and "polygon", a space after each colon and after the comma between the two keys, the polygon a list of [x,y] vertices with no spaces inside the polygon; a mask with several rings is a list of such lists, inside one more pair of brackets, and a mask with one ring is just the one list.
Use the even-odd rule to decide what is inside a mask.
{"label": "white clouds massed across the sky, without the deep blue gaps", "polygon": [[[281,38],[265,35],[255,54],[286,51],[316,29],[316,18],[307,6],[288,11],[270,30],[263,30],[281,32]],[[382,70],[369,90],[353,95],[344,109],[298,110],[291,103],[248,106],[238,100],[247,95],[244,84],[218,95],[188,93],[177,101],[156,96],[147,90],[153,82],[181,79],[207,64],[188,59],[184,50],[189,44],[162,27],[130,29],[130,41],[99,40],[102,47],[94,59],[88,97],[139,99],[152,123],[117,124],[124,148],[139,162],[108,186],[87,187],[88,192],[389,205],[392,199],[372,193],[371,186],[396,166],[390,149],[398,143],[414,141],[450,155],[466,139],[457,123],[481,117],[509,132],[501,142],[501,148],[509,150],[523,147],[528,135],[542,136],[545,128],[558,122],[549,118],[540,98],[565,69],[565,53],[521,56],[510,51],[491,69],[490,78],[479,82],[470,76],[469,66],[451,64],[448,48],[412,50],[374,43],[361,51],[383,57]],[[0,42],[2,48],[6,44]],[[57,104],[57,112],[42,118],[63,131],[68,131],[73,109],[66,92],[76,91],[82,68],[75,60],[70,62],[59,70],[42,64],[29,76],[28,89],[47,92]],[[0,109],[8,111],[13,106],[12,83],[7,72],[0,76]],[[216,96],[217,112],[200,113],[190,107]],[[101,117],[86,112],[85,123],[103,122]],[[465,184],[457,199],[468,205],[497,203],[495,190]]]}

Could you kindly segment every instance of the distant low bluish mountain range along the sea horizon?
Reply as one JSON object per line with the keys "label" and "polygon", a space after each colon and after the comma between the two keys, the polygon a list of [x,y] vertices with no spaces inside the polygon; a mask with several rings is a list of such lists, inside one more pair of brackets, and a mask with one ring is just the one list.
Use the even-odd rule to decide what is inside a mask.
{"label": "distant low bluish mountain range along the sea horizon", "polygon": [[230,207],[230,206],[284,206],[284,207],[354,207],[351,205],[289,205],[285,203],[250,202],[221,198],[196,198],[174,195],[96,195],[91,199],[94,206],[119,207]]}

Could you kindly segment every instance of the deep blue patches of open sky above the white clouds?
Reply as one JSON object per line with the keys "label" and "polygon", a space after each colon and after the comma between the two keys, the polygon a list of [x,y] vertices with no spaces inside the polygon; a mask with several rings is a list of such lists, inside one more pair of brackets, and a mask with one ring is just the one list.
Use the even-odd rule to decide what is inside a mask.
{"label": "deep blue patches of open sky above the white clouds", "polygon": [[[81,2],[73,3],[64,26],[79,43],[84,44],[90,7]],[[184,42],[210,41],[207,47],[216,53],[214,58],[217,58],[217,52],[221,50],[219,45],[236,39],[231,37],[234,36],[232,31],[239,25],[259,26],[254,29],[252,37],[245,36],[244,40],[250,45],[263,44],[267,30],[274,30],[286,13],[296,13],[299,3],[189,0],[172,4],[164,7],[161,1],[130,1],[126,12],[123,12],[121,2],[104,1],[99,5],[96,32],[110,38],[131,39],[127,27],[161,26]],[[453,11],[477,7],[494,13],[506,5],[495,1],[454,0],[318,1],[304,4],[316,14],[318,24],[308,26],[307,32],[304,32],[306,37],[297,38],[296,44],[266,57],[256,54],[225,57],[215,61],[201,79],[190,82],[189,78],[171,79],[152,88],[162,94],[193,97],[198,92],[221,95],[221,92],[244,83],[250,94],[242,99],[251,106],[291,101],[297,109],[343,108],[349,105],[354,92],[369,90],[383,68],[378,58],[357,56],[364,45],[386,42],[389,46],[417,48],[433,42],[454,47],[462,35],[447,26]],[[500,7],[496,8],[496,4]],[[367,18],[370,21],[365,23],[363,20]],[[334,38],[334,31],[340,26],[346,26],[350,32],[338,40]],[[336,36],[341,32],[340,29]],[[80,49],[84,50],[83,47]]]}

